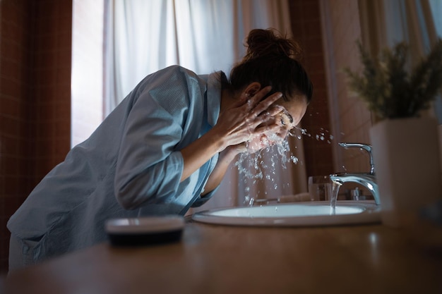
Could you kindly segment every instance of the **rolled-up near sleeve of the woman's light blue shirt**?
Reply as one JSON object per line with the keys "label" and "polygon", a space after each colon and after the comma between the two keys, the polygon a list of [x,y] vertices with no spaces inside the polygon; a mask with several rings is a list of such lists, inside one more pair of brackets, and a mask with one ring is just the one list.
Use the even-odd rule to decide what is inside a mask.
{"label": "rolled-up near sleeve of the woman's light blue shirt", "polygon": [[125,209],[172,202],[184,166],[177,146],[198,137],[184,137],[189,109],[195,111],[191,104],[202,100],[196,97],[201,96],[199,87],[189,82],[194,81],[175,68],[155,73],[134,93],[138,97],[126,121],[114,181],[117,200]]}

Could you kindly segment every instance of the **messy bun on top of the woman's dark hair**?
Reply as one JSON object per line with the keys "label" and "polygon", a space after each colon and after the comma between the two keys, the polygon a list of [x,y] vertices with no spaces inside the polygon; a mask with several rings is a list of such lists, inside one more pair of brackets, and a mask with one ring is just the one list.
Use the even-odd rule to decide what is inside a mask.
{"label": "messy bun on top of the woman's dark hair", "polygon": [[282,37],[275,29],[251,30],[246,39],[247,52],[244,60],[258,57],[282,57],[298,59],[301,55],[299,44],[293,39]]}

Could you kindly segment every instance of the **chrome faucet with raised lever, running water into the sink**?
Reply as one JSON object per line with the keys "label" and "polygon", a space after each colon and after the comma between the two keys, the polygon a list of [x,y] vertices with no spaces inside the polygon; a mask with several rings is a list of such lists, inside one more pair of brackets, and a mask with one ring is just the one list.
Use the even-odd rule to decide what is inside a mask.
{"label": "chrome faucet with raised lever, running water into the sink", "polygon": [[379,201],[379,191],[378,191],[378,184],[376,183],[376,176],[374,173],[374,161],[373,161],[373,154],[371,154],[371,145],[366,144],[360,144],[360,143],[339,143],[341,147],[357,147],[364,149],[366,152],[369,152],[370,156],[370,172],[369,173],[335,173],[330,175],[330,180],[333,183],[337,183],[339,185],[338,190],[340,186],[343,183],[358,183],[360,185],[363,185],[365,188],[367,188],[371,194],[374,197],[374,202],[376,204],[381,204]]}

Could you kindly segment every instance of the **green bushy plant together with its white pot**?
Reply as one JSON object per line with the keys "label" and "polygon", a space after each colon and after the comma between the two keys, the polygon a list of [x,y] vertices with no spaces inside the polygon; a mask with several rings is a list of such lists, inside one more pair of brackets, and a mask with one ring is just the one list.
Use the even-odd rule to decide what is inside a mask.
{"label": "green bushy plant together with its white pot", "polygon": [[405,42],[376,57],[358,42],[362,73],[345,68],[350,90],[376,116],[370,129],[382,221],[405,226],[441,199],[441,164],[431,102],[442,86],[442,40],[411,65]]}

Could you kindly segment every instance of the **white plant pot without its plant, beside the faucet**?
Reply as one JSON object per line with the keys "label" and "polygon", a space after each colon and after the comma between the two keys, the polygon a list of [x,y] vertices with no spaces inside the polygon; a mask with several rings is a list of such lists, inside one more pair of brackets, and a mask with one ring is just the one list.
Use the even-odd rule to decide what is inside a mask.
{"label": "white plant pot without its plant, beside the faucet", "polygon": [[370,138],[382,222],[407,226],[442,197],[437,123],[428,117],[381,121]]}

